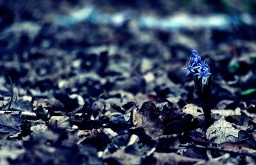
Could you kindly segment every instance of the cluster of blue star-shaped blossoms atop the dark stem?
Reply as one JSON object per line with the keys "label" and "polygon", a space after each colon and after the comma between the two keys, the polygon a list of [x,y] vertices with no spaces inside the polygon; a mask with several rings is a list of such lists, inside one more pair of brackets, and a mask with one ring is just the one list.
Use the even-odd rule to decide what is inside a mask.
{"label": "cluster of blue star-shaped blossoms atop the dark stem", "polygon": [[210,73],[209,64],[207,63],[207,61],[202,61],[196,50],[191,51],[190,64],[183,69],[188,70],[186,75],[197,75],[198,79],[202,78],[204,83],[207,80],[207,77],[212,75]]}

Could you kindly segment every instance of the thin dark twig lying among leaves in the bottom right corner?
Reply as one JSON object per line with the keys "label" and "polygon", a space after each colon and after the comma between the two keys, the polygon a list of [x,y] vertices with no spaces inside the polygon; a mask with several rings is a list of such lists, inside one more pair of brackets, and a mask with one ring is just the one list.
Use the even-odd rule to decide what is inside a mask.
{"label": "thin dark twig lying among leaves in the bottom right corner", "polygon": [[249,157],[255,157],[256,158],[256,152],[255,153],[248,153],[248,152],[241,152],[241,151],[234,151],[234,150],[228,150],[225,148],[219,148],[216,146],[201,146],[201,145],[180,145],[180,148],[198,148],[198,149],[204,149],[204,150],[210,150],[214,152],[225,152],[225,153],[230,153],[233,155],[244,155],[244,156],[249,156]]}

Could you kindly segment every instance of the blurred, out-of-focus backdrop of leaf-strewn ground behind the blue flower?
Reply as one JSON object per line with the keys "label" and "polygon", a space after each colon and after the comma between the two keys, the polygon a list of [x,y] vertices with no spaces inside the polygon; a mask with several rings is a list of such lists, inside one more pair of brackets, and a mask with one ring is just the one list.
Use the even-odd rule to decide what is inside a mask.
{"label": "blurred, out-of-focus backdrop of leaf-strewn ground behind the blue flower", "polygon": [[[182,98],[192,49],[211,61],[214,104],[256,92],[255,0],[1,1],[1,89],[19,95]],[[145,85],[146,84],[146,85]],[[44,93],[45,92],[45,93]]]}

